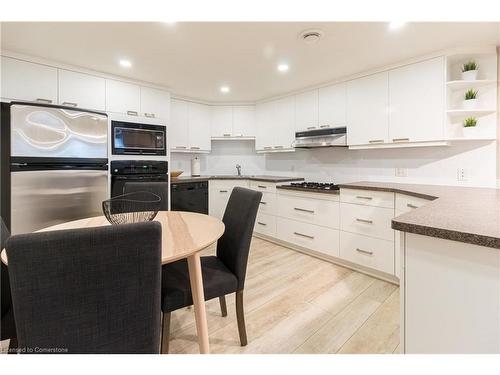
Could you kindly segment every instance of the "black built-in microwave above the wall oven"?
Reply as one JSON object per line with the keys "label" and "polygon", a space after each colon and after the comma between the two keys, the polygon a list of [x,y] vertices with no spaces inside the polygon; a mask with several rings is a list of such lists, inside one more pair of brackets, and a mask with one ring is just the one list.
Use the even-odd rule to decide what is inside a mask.
{"label": "black built-in microwave above the wall oven", "polygon": [[166,155],[166,127],[111,121],[113,155]]}

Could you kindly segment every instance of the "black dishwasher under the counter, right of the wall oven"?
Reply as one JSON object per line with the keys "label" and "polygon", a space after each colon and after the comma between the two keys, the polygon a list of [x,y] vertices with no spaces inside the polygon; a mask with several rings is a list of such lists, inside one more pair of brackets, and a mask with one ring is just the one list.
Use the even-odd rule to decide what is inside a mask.
{"label": "black dishwasher under the counter, right of the wall oven", "polygon": [[208,181],[171,181],[170,209],[208,215]]}

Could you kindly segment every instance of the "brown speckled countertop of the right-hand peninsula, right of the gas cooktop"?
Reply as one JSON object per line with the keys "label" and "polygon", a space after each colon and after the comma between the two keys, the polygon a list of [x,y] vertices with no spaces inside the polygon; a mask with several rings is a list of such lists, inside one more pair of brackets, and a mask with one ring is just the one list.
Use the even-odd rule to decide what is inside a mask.
{"label": "brown speckled countertop of the right-hand peninsula, right of the gas cooktop", "polygon": [[500,189],[355,182],[340,188],[390,191],[429,199],[392,220],[403,232],[500,249]]}

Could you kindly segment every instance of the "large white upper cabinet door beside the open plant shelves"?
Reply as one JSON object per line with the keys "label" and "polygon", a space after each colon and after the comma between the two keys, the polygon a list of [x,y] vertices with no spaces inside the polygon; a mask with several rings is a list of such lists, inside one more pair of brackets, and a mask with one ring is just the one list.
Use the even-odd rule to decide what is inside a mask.
{"label": "large white upper cabinet door beside the open plant shelves", "polygon": [[444,57],[389,72],[389,141],[444,138]]}

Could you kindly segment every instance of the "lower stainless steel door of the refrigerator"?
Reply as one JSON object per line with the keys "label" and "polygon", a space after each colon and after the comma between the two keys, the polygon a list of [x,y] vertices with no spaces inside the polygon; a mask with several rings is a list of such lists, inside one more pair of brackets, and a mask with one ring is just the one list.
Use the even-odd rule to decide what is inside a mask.
{"label": "lower stainless steel door of the refrigerator", "polygon": [[97,170],[12,172],[12,234],[102,215],[107,181],[107,171]]}

